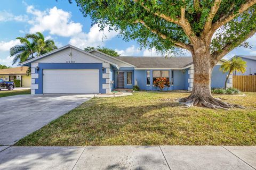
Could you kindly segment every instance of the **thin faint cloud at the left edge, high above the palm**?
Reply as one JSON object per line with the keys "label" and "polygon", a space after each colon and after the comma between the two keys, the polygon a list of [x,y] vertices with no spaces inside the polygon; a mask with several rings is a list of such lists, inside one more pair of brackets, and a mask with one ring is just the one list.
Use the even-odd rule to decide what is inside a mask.
{"label": "thin faint cloud at the left edge, high above the palm", "polygon": [[25,22],[27,20],[28,20],[27,15],[14,15],[11,12],[0,11],[0,22],[7,22],[7,21]]}

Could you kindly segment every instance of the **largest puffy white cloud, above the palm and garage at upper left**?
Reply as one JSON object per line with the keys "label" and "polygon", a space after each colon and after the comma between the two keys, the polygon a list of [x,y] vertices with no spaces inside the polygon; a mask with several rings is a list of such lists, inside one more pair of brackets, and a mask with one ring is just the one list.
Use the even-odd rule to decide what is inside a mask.
{"label": "largest puffy white cloud, above the palm and garage at upper left", "polygon": [[34,15],[34,18],[28,21],[33,25],[29,30],[30,33],[49,31],[51,35],[70,37],[82,32],[83,25],[70,20],[71,13],[58,9],[56,6],[39,11],[29,5],[27,13]]}

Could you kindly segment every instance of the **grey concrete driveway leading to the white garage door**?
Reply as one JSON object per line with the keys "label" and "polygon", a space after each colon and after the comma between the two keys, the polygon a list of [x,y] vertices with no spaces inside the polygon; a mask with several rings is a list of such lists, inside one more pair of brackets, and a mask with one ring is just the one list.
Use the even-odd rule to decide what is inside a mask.
{"label": "grey concrete driveway leading to the white garage door", "polygon": [[93,95],[17,95],[0,98],[0,145],[14,145]]}

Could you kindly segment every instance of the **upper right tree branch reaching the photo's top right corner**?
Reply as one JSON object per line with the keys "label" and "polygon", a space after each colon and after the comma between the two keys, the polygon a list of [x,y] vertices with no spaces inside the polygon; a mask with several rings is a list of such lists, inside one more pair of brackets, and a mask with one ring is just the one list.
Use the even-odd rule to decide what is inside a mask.
{"label": "upper right tree branch reaching the photo's top right corner", "polygon": [[233,20],[236,16],[238,16],[239,14],[243,13],[244,11],[246,11],[249,7],[251,7],[252,5],[256,4],[256,0],[249,0],[247,3],[243,4],[241,6],[241,8],[237,11],[237,13],[232,13],[231,15],[226,16],[225,18],[220,19],[219,21],[215,22],[212,25],[212,30],[211,31],[215,31],[217,30],[219,27],[221,27],[221,25],[226,24],[227,22]]}

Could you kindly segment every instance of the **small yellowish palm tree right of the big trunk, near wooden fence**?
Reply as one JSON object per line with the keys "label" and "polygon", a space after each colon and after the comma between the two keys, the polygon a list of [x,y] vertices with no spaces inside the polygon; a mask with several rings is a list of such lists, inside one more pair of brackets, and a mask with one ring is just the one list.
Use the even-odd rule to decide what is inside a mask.
{"label": "small yellowish palm tree right of the big trunk, near wooden fence", "polygon": [[233,57],[232,60],[229,60],[223,63],[220,67],[220,70],[222,70],[223,72],[228,72],[228,77],[226,78],[226,81],[225,81],[225,89],[226,89],[229,75],[236,71],[244,73],[246,71],[246,62],[243,61],[242,58],[240,57]]}

